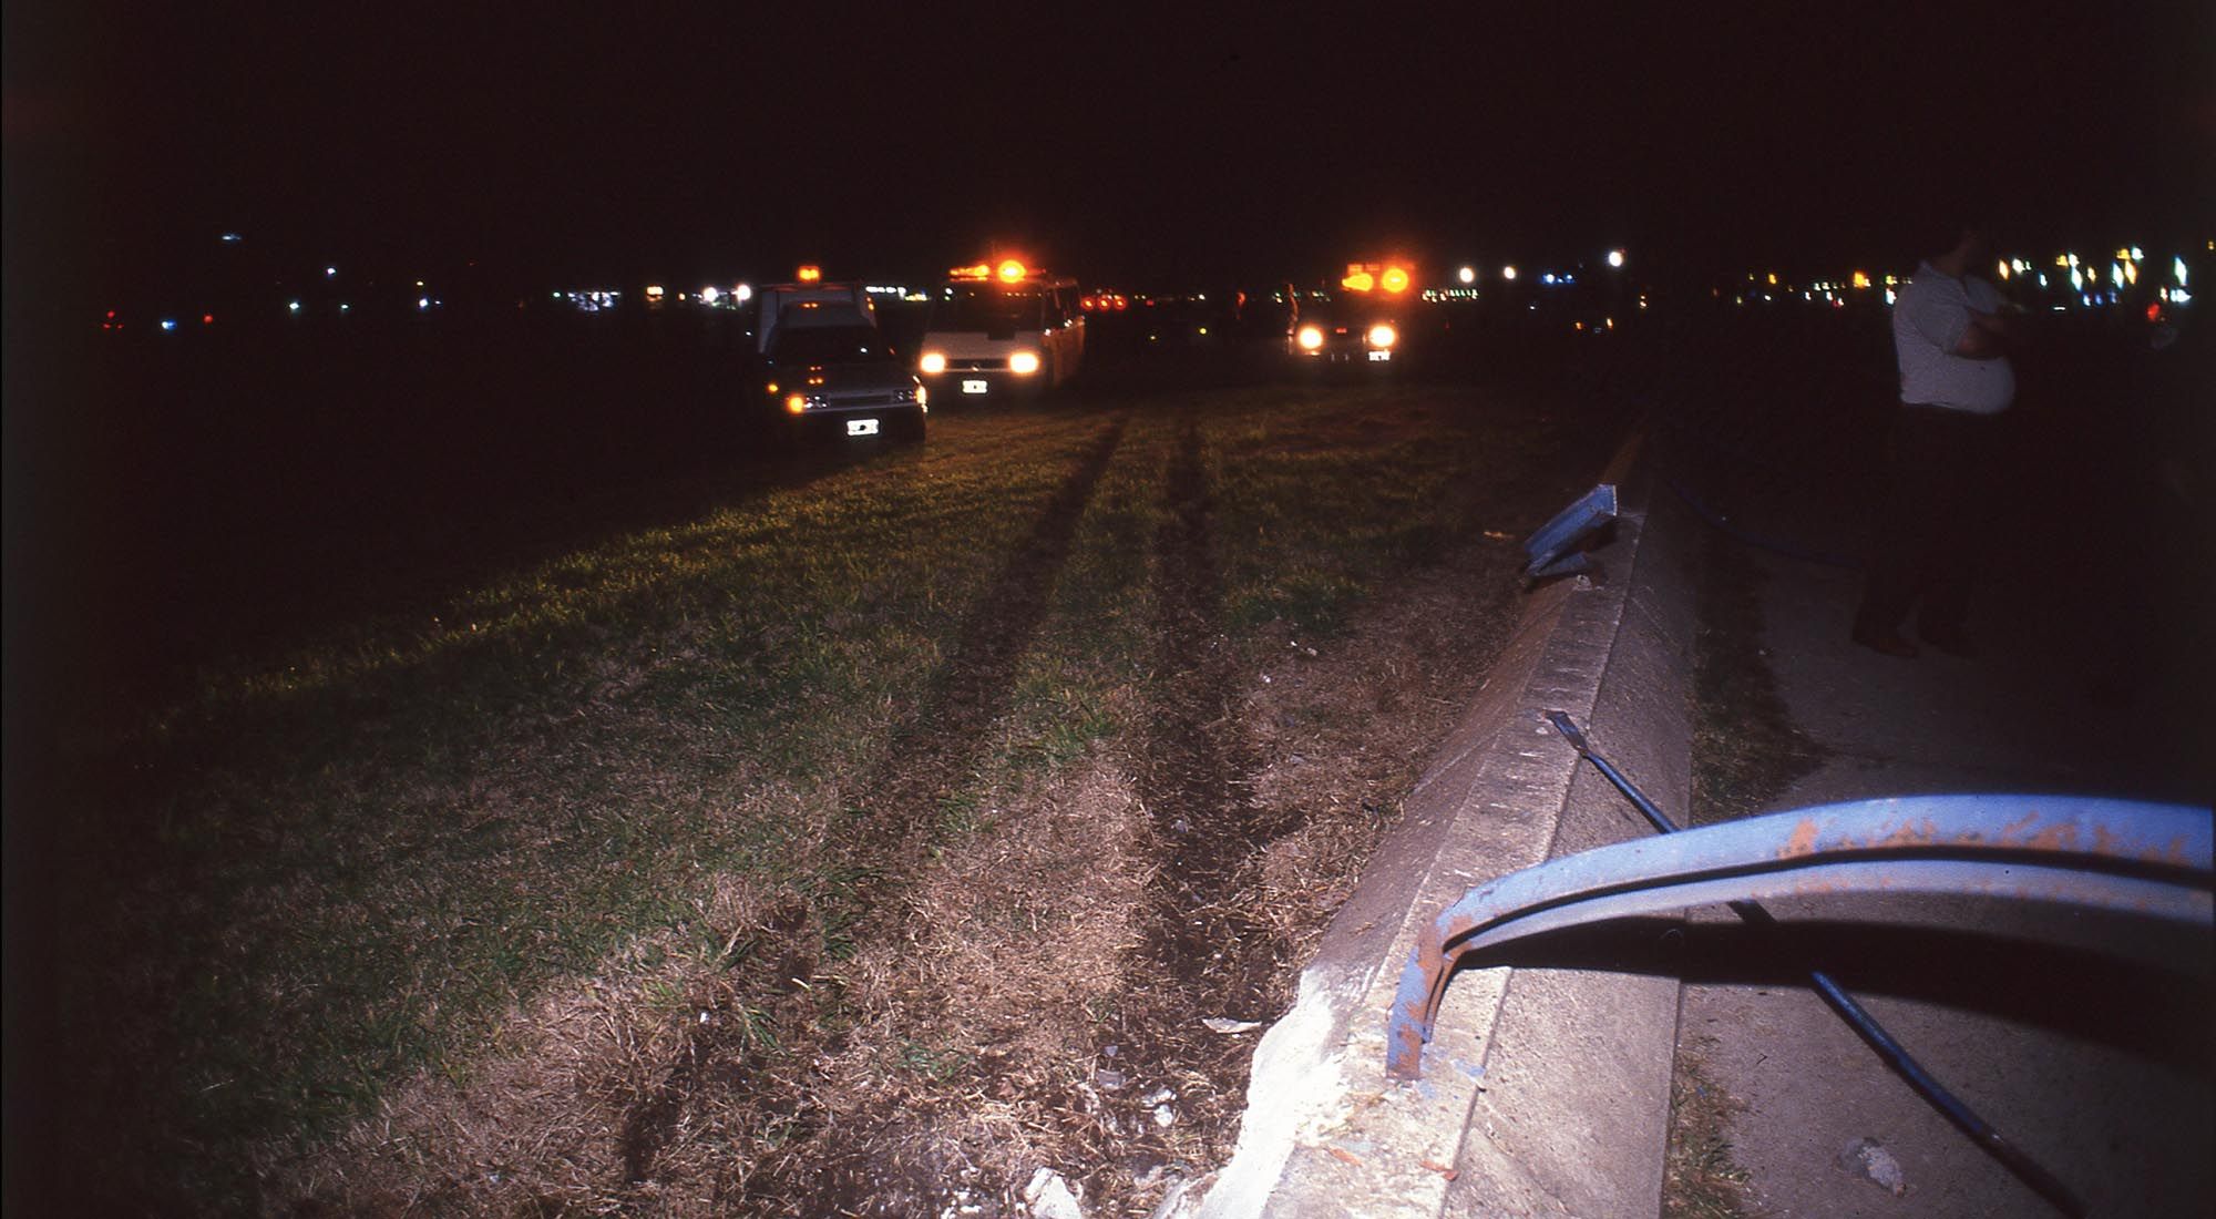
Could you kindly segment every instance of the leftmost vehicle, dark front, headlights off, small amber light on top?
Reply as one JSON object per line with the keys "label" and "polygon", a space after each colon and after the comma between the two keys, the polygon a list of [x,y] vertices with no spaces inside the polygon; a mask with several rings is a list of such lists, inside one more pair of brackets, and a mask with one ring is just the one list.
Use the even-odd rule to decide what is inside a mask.
{"label": "leftmost vehicle, dark front, headlights off, small amber light on top", "polygon": [[802,432],[924,439],[931,395],[878,328],[862,284],[827,284],[802,266],[756,301],[756,375],[773,414]]}

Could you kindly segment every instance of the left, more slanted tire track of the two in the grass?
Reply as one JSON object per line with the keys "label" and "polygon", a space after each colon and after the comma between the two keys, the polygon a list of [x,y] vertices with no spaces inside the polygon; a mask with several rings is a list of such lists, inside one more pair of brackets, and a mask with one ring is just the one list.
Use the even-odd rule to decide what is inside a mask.
{"label": "left, more slanted tire track of the two in the grass", "polygon": [[[811,984],[822,962],[809,949],[844,935],[862,940],[889,933],[891,926],[880,920],[900,918],[893,906],[906,864],[944,829],[948,800],[968,787],[986,754],[986,731],[1008,711],[1017,665],[1053,607],[1055,581],[1070,556],[1092,490],[1117,454],[1124,423],[1121,414],[1110,419],[1084,450],[1039,512],[1030,536],[962,623],[948,660],[915,709],[893,729],[884,758],[855,785],[860,796],[849,805],[842,836],[835,840],[844,860],[842,873],[851,884],[820,893],[813,909],[778,911],[771,922],[784,944],[758,960],[733,962],[733,969],[747,966],[749,988],[767,997],[765,1011],[796,1026],[789,1033],[804,1035],[804,1024],[815,1013]],[[722,1028],[731,1033],[716,1033]],[[769,1095],[771,1088],[760,1079],[756,1071],[760,1042],[753,1024],[718,1020],[669,1066],[658,1088],[632,1104],[623,1128],[616,1130],[629,1186],[654,1179],[660,1150],[687,1113],[709,1099],[702,1093],[716,1088],[725,1090],[722,1099],[738,1093],[780,1115],[796,1115],[793,1139],[811,1133],[811,1115],[802,1113],[804,1099]],[[813,1119],[820,1121],[820,1115]],[[855,1135],[866,1139],[866,1130]],[[747,1201],[765,1210],[807,1210],[815,1199],[824,1203],[822,1210],[844,1212],[835,1206],[840,1195],[862,1186],[866,1197],[882,1181],[871,1181],[866,1175],[847,1181],[842,1168],[866,1172],[866,1161],[842,1166],[840,1159],[822,1157],[815,1172],[800,1179],[778,1170],[765,1172],[747,1184]]]}

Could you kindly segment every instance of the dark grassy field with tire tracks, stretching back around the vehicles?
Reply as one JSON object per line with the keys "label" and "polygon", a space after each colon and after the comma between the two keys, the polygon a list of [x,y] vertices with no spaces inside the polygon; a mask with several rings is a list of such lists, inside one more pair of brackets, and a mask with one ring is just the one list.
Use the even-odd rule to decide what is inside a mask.
{"label": "dark grassy field with tire tracks, stretching back around the vehicles", "polygon": [[[995,1212],[1050,1164],[1146,1212],[1237,1133],[1250,1039],[1194,1024],[1274,1015],[1633,421],[1726,525],[1864,545],[1795,505],[1879,479],[1881,313],[1454,313],[1383,379],[1203,321],[920,450],[787,443],[676,310],[11,370],[40,1186]],[[2043,352],[1997,561],[2205,707],[2207,337]]]}

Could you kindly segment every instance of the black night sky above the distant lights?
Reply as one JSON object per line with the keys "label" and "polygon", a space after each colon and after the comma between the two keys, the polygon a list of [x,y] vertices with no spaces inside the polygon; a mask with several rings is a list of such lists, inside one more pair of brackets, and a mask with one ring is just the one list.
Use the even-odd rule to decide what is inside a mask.
{"label": "black night sky above the distant lights", "polygon": [[2207,4],[784,9],[11,2],[9,259],[1837,270],[1908,259],[1926,197],[2028,248],[2216,215]]}

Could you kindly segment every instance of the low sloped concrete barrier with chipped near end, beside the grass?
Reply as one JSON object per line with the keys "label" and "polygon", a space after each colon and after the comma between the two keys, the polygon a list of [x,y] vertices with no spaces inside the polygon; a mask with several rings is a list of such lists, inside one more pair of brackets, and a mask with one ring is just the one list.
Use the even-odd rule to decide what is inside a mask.
{"label": "low sloped concrete barrier with chipped near end, beside the grass", "polygon": [[[1600,581],[1536,590],[1403,822],[1254,1051],[1232,1161],[1199,1203],[1254,1215],[1655,1215],[1678,980],[1471,969],[1447,991],[1423,1079],[1385,1079],[1385,1013],[1440,909],[1496,875],[1649,833],[1545,711],[1662,807],[1691,787],[1693,521],[1638,439],[1611,461],[1622,516]],[[1199,1186],[1199,1181],[1197,1181]]]}

